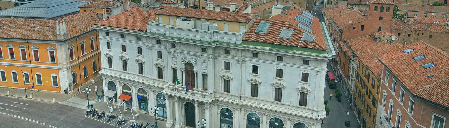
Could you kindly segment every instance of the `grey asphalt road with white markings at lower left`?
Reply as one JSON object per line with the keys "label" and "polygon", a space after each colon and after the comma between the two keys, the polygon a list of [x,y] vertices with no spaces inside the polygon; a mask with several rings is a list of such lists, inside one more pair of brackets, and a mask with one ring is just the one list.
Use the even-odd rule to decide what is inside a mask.
{"label": "grey asphalt road with white markings at lower left", "polygon": [[[0,96],[1,128],[117,128],[59,103]],[[129,126],[129,125],[128,125]]]}

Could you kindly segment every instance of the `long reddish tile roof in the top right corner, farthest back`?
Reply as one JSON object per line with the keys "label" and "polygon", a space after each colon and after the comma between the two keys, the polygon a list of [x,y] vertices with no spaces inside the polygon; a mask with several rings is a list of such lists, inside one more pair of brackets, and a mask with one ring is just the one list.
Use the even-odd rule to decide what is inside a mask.
{"label": "long reddish tile roof in the top right corner, farthest back", "polygon": [[417,12],[440,12],[449,13],[449,6],[430,6],[430,5],[413,5],[413,4],[397,4],[399,11],[417,11]]}

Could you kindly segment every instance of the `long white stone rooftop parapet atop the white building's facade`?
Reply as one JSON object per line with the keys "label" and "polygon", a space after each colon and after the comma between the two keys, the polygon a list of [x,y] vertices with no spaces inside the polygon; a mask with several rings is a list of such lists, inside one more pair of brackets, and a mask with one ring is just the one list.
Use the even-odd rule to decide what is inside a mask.
{"label": "long white stone rooftop parapet atop the white building's facade", "polygon": [[158,24],[158,21],[147,23],[147,32],[164,34],[168,37],[178,37],[207,42],[228,42],[240,44],[247,31],[240,33],[225,32],[220,30],[182,29],[173,25]]}

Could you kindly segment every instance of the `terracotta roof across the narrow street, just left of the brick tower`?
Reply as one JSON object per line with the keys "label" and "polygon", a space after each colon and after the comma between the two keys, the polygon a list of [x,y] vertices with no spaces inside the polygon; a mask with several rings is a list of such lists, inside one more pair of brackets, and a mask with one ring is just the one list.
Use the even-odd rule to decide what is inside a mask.
{"label": "terracotta roof across the narrow street, just left of the brick tower", "polygon": [[362,13],[357,8],[353,8],[350,5],[329,9],[326,12],[326,17],[328,20],[332,19],[339,29],[368,20],[368,17],[362,16]]}

